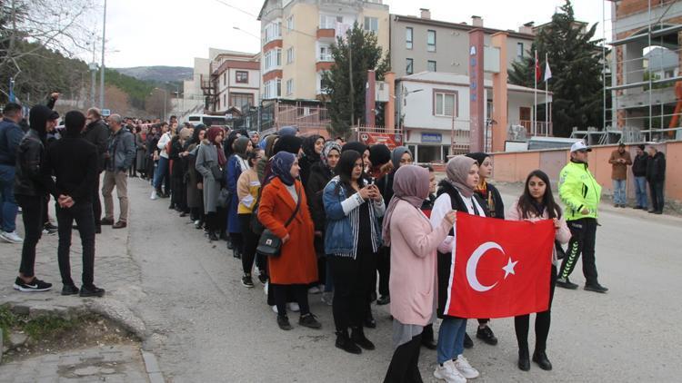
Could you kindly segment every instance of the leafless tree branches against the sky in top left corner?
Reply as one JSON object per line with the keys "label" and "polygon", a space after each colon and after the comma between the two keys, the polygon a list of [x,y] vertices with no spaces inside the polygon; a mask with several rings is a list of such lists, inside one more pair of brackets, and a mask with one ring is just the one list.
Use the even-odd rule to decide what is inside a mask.
{"label": "leafless tree branches against the sky in top left corner", "polygon": [[[96,0],[0,1],[0,69],[16,77],[22,58],[45,49],[73,57],[92,40]],[[25,44],[25,43],[32,44]],[[0,83],[5,92],[6,83]]]}

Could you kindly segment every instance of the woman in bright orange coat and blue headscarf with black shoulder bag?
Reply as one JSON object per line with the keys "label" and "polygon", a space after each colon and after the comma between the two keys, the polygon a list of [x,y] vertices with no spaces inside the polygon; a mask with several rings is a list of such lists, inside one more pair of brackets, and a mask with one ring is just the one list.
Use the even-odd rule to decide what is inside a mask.
{"label": "woman in bright orange coat and blue headscarf with black shoulder bag", "polygon": [[[279,152],[270,164],[272,174],[266,178],[261,193],[258,221],[282,240],[280,255],[268,258],[269,290],[275,296],[277,325],[280,329],[292,329],[286,315],[286,294],[292,291],[301,312],[298,324],[320,329],[322,324],[308,306],[307,285],[317,280],[317,267],[313,220],[308,211],[306,192],[297,179],[298,160],[290,152]],[[292,215],[294,219],[285,226]]]}

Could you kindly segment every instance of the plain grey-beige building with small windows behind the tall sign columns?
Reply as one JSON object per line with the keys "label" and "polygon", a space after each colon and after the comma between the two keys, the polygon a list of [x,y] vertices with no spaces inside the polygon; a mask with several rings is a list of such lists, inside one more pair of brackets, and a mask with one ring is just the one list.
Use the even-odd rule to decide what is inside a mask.
{"label": "plain grey-beige building with small windows behind the tall sign columns", "polygon": [[[484,44],[490,44],[490,36],[498,29],[487,28],[483,19],[471,17],[471,24],[450,23],[433,20],[428,9],[420,9],[420,15],[391,15],[391,67],[396,77],[420,72],[441,72],[468,75],[469,34],[481,28],[485,33]],[[532,25],[522,25],[518,31],[506,32],[507,67],[527,55],[535,38]],[[489,78],[489,74],[486,74]]]}

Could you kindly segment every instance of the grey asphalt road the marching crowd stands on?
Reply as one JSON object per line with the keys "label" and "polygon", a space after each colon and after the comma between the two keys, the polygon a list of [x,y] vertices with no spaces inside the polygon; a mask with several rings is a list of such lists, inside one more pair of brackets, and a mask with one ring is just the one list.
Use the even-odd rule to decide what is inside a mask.
{"label": "grey asphalt road the marching crowd stands on", "polygon": [[[210,243],[187,218],[149,200],[147,182],[130,180],[130,250],[141,265],[145,298],[134,308],[154,332],[148,342],[173,382],[377,382],[392,355],[386,306],[373,306],[377,329],[367,338],[376,350],[360,356],[334,347],[331,308],[311,295],[323,329],[276,326],[263,286],[240,284],[241,263],[226,243]],[[506,204],[517,195],[503,188]],[[465,355],[481,382],[679,381],[682,309],[682,219],[614,209],[604,202],[597,230],[597,269],[610,290],[601,295],[561,290],[553,306],[547,355],[554,370],[517,369],[512,319],[494,319],[499,344],[475,339]],[[572,280],[583,284],[580,267]],[[677,298],[676,298],[677,297]],[[469,321],[469,334],[475,333]],[[532,329],[532,325],[531,325]],[[437,327],[436,327],[437,330]],[[531,347],[534,335],[530,336]],[[422,349],[420,369],[433,378],[436,353]]]}

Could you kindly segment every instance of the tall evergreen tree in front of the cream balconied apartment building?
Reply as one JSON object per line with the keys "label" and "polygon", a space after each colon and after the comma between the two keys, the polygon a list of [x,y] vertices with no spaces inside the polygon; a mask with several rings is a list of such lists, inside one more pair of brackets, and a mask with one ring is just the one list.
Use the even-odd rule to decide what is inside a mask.
{"label": "tall evergreen tree in front of the cream balconied apartment building", "polygon": [[331,53],[334,64],[330,71],[322,74],[322,89],[330,101],[327,110],[332,123],[328,130],[333,137],[347,138],[351,133],[350,127],[365,113],[367,71],[374,69],[376,79],[383,80],[390,69],[390,62],[387,54],[382,59],[383,52],[377,44],[376,34],[363,30],[357,23],[348,30],[346,39],[336,38]]}

